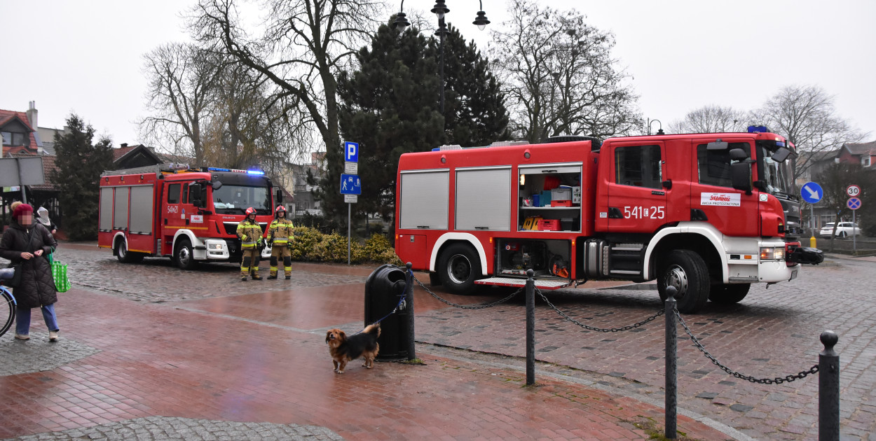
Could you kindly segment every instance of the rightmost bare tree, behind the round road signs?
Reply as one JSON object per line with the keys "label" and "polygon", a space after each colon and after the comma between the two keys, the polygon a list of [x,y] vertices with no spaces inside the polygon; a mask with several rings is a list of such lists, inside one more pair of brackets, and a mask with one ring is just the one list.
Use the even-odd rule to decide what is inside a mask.
{"label": "rightmost bare tree, behind the round road signs", "polygon": [[[856,143],[864,135],[837,116],[833,96],[817,86],[788,86],[754,110],[752,121],[764,123],[774,133],[788,137],[800,151],[809,154],[834,151],[844,143]],[[805,175],[813,161],[798,161],[794,178]]]}

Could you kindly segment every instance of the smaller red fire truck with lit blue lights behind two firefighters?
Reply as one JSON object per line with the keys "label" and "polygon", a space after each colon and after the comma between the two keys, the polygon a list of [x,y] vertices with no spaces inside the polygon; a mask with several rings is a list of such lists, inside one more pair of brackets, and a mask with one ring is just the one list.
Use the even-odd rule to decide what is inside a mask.
{"label": "smaller red fire truck with lit blue lights behind two firefighters", "polygon": [[244,211],[255,208],[266,232],[274,200],[282,198],[264,172],[186,165],[104,172],[100,186],[98,247],[112,248],[126,263],[168,256],[182,269],[198,261],[240,262]]}

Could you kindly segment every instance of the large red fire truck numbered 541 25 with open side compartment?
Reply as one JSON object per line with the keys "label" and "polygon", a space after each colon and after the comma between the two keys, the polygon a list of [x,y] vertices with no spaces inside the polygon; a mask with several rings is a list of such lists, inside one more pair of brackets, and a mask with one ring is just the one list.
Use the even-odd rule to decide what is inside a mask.
{"label": "large red fire truck numbered 541 25 with open side compartment", "polygon": [[736,303],[794,279],[802,248],[795,147],[768,132],[556,137],[443,146],[399,159],[396,253],[433,284],[557,289],[657,279],[678,309]]}

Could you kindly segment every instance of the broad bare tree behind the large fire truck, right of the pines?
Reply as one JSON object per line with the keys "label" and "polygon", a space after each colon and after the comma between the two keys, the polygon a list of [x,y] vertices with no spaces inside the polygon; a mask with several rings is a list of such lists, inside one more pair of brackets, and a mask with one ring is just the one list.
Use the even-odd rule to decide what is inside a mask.
{"label": "broad bare tree behind the large fire truck, right of the pines", "polygon": [[511,128],[540,142],[569,134],[610,137],[641,125],[638,96],[611,58],[614,37],[576,11],[513,0],[505,31],[492,34],[494,71],[505,83]]}

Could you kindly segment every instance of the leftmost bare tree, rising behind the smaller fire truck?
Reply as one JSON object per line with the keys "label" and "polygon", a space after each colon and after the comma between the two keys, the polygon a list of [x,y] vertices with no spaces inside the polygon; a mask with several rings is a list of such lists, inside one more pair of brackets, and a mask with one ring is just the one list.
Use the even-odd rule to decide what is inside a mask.
{"label": "leftmost bare tree, rising behind the smaller fire truck", "polygon": [[211,116],[220,69],[208,52],[194,45],[162,45],[144,55],[149,79],[146,107],[154,113],[140,122],[153,143],[203,165],[203,128]]}

